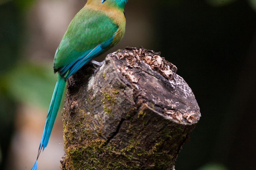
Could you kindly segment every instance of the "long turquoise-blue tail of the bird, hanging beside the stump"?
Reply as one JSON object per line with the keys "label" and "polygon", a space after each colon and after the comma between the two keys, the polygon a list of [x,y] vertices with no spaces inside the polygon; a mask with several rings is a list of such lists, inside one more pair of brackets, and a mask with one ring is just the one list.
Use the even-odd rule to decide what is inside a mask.
{"label": "long turquoise-blue tail of the bird, hanging beside the stump", "polygon": [[52,131],[52,127],[53,124],[55,122],[59,107],[60,107],[60,102],[61,102],[61,98],[63,95],[63,91],[66,85],[66,80],[64,79],[64,77],[60,76],[60,74],[58,73],[58,79],[52,94],[52,99],[51,99],[51,103],[50,103],[50,107],[47,113],[47,117],[46,117],[46,121],[44,124],[44,131],[43,131],[43,135],[41,138],[41,143],[38,149],[38,154],[37,154],[37,158],[36,158],[36,162],[32,168],[32,170],[36,170],[37,169],[37,159],[38,156],[41,152],[41,150],[47,146],[50,135],[51,135],[51,131]]}

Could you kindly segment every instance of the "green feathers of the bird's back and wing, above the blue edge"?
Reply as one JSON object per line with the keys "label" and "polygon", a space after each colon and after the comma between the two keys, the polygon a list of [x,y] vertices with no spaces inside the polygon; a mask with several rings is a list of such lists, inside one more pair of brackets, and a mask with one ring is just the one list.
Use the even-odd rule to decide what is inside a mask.
{"label": "green feathers of the bird's back and wing, above the blue edge", "polygon": [[117,29],[118,26],[103,12],[81,9],[69,24],[56,51],[53,68],[58,69],[74,61],[87,50],[110,39]]}

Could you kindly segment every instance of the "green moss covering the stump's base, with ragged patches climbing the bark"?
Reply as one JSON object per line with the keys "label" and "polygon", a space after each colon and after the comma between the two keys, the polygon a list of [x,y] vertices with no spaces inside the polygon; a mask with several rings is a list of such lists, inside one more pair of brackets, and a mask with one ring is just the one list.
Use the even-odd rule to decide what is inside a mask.
{"label": "green moss covering the stump's base, with ragged patches climbing the bark", "polygon": [[[101,135],[101,129],[103,128],[102,120],[97,118],[98,123],[90,124],[91,115],[83,114],[88,123],[77,122],[75,124],[76,129],[84,128],[87,138],[83,140],[78,138],[80,143],[72,144],[66,148],[66,168],[71,170],[140,170],[140,169],[167,169],[170,166],[170,161],[173,159],[172,155],[167,152],[160,151],[159,148],[163,145],[163,140],[156,142],[151,149],[142,149],[144,143],[141,143],[139,138],[131,137],[127,145],[125,143],[119,143],[124,148],[116,148],[116,143],[106,143]],[[133,133],[138,131],[138,128],[128,124],[127,133]],[[97,130],[94,130],[97,129]],[[96,132],[96,133],[95,133]],[[75,135],[72,131],[69,131],[69,135]],[[78,131],[79,133],[79,131]],[[142,135],[140,133],[139,135]],[[81,136],[76,134],[76,136]],[[74,137],[74,136],[73,136]],[[74,140],[74,139],[73,139]],[[85,142],[86,141],[86,142]],[[102,154],[104,153],[104,154]],[[122,161],[120,161],[122,160]],[[146,162],[147,168],[138,164],[139,162]]]}

